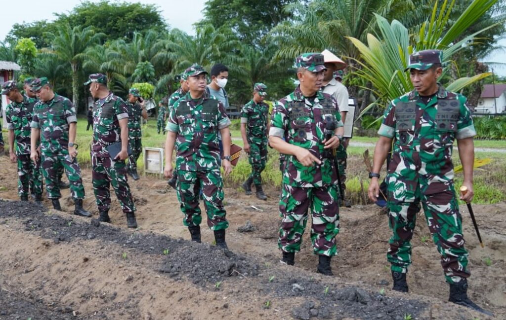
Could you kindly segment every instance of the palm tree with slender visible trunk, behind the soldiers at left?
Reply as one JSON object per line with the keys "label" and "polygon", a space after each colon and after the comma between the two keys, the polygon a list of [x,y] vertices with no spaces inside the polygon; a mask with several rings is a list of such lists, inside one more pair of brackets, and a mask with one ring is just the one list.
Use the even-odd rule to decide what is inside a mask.
{"label": "palm tree with slender visible trunk, behind the soldiers at left", "polygon": [[70,28],[69,24],[57,27],[56,33],[48,33],[51,40],[51,50],[62,61],[70,64],[72,75],[72,102],[76,109],[79,109],[79,72],[81,71],[81,63],[85,58],[86,49],[97,44],[103,33],[95,33],[91,27],[81,28],[76,26]]}

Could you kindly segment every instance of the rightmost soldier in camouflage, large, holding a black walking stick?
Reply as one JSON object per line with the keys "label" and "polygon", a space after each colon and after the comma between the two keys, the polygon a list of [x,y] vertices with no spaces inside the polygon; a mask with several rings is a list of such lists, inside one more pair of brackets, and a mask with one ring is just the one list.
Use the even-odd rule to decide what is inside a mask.
{"label": "rightmost soldier in camouflage, large, holding a black walking stick", "polygon": [[460,199],[469,202],[474,195],[476,131],[466,98],[437,83],[442,73],[442,56],[440,50],[424,50],[410,56],[406,71],[410,72],[414,90],[394,99],[385,111],[374,149],[373,172],[369,174],[369,198],[375,201],[378,197],[379,170],[394,140],[386,179],[389,225],[393,232],[387,258],[391,263],[393,289],[408,291],[406,272],[411,264],[411,238],[421,202],[450,285],[449,301],[486,312],[467,296],[468,252],[464,247],[451,161],[453,141],[457,139],[464,170],[462,184],[469,190]]}

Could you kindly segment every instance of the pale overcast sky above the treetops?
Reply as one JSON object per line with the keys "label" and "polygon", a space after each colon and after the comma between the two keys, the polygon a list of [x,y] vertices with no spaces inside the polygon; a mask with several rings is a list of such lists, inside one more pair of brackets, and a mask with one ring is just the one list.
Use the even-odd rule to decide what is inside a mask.
{"label": "pale overcast sky above the treetops", "polygon": [[[90,2],[100,2],[90,0]],[[128,1],[135,2],[135,1]],[[161,11],[161,15],[171,28],[181,29],[189,34],[195,34],[192,25],[202,18],[205,0],[141,0],[143,4],[154,4]],[[67,13],[77,6],[79,0],[22,0],[20,3],[10,0],[2,0],[2,15],[0,15],[0,40],[12,29],[15,23],[33,22],[36,20],[55,19],[53,13]],[[506,40],[499,41],[506,46]],[[496,51],[486,62],[506,63],[506,52]],[[495,66],[494,72],[500,76],[506,76],[506,66]]]}

